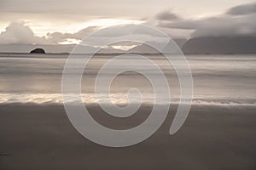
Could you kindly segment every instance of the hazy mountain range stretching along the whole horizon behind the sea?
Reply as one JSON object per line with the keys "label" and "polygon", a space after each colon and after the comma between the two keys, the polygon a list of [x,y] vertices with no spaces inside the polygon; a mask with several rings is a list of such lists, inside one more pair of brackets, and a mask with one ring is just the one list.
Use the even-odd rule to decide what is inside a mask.
{"label": "hazy mountain range stretching along the whole horizon behind the sea", "polygon": [[[178,39],[174,40],[182,49],[183,54],[256,54],[256,37],[195,37],[189,41]],[[184,43],[185,42],[185,43]],[[183,44],[184,43],[184,44]],[[160,46],[160,43],[156,45]],[[164,52],[177,54],[172,51],[172,42],[169,42]],[[0,44],[1,53],[29,53],[35,48],[44,48],[47,53],[71,53],[76,45],[44,45],[44,44]],[[177,48],[174,48],[177,49]],[[83,51],[90,53],[94,47],[83,46]],[[170,51],[171,50],[171,51]],[[128,51],[108,47],[102,48],[99,54],[158,54],[154,48],[145,44],[138,45]]]}

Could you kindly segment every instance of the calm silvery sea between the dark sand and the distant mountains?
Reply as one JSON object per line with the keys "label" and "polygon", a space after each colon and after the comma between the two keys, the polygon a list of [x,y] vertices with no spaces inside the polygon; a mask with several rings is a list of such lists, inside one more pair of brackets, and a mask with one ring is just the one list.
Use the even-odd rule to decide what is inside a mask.
{"label": "calm silvery sea between the dark sand and the distant mountains", "polygon": [[[256,105],[256,55],[186,57],[193,75],[194,105]],[[112,58],[111,54],[96,55],[86,66],[81,83],[85,103],[100,100],[94,93],[96,76],[101,66]],[[67,55],[59,54],[0,54],[0,103],[61,104],[61,77],[66,59]],[[148,59],[160,65],[169,82],[172,102],[177,102],[180,90],[172,65],[157,54],[149,55]],[[129,62],[131,60],[125,60],[127,65]],[[113,65],[118,66],[122,65]],[[154,71],[148,69],[148,74]],[[148,80],[133,71],[114,79],[110,98],[114,103],[125,103],[131,88],[140,89],[144,101],[154,101],[154,91]]]}

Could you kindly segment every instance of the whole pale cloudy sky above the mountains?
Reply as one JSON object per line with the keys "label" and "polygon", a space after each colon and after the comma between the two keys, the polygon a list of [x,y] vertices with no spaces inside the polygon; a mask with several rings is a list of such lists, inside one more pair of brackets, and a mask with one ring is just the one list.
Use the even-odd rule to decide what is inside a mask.
{"label": "whole pale cloudy sky above the mountains", "polygon": [[146,24],[172,38],[256,36],[255,0],[1,0],[0,44],[72,44],[92,31]]}

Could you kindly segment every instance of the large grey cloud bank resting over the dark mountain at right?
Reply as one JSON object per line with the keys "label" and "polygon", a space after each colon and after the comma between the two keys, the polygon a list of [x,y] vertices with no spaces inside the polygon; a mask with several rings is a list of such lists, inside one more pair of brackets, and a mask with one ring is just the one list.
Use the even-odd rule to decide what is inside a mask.
{"label": "large grey cloud bank resting over the dark mountain at right", "polygon": [[[199,20],[160,20],[159,26],[190,30],[190,37],[256,37],[255,4],[230,8],[227,13]],[[230,14],[232,12],[232,14]]]}

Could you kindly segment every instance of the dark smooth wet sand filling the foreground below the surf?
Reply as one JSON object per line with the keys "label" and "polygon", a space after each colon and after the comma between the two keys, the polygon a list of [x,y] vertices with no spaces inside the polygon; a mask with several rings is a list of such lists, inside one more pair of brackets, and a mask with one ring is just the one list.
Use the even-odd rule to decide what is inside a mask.
{"label": "dark smooth wet sand filling the foreground below the surf", "polygon": [[[96,106],[90,110],[121,129],[147,118],[150,107],[118,123]],[[0,169],[256,169],[256,106],[193,106],[170,136],[174,111],[143,143],[108,148],[84,139],[61,105],[1,105]]]}

